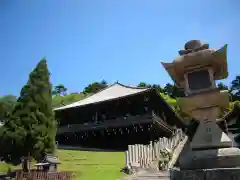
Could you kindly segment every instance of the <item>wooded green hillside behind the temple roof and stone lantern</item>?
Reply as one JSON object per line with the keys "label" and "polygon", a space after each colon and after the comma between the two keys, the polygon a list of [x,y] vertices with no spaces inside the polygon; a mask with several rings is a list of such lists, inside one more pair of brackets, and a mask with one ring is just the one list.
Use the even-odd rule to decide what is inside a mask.
{"label": "wooded green hillside behind the temple roof and stone lantern", "polygon": [[[106,88],[108,83],[105,80],[101,82],[93,82],[86,86],[82,92],[67,93],[67,88],[63,84],[59,84],[53,87],[52,89],[52,107],[59,107],[67,105],[79,100],[82,100],[98,91]],[[161,87],[159,84],[148,84],[145,82],[140,82],[139,87],[153,87],[156,88],[162,97],[171,104],[174,108],[177,108],[176,100],[179,97],[184,96],[184,93],[181,89],[167,83],[164,87]],[[237,101],[240,100],[240,76],[237,76],[228,87],[223,83],[218,83],[218,88],[220,90],[228,90],[230,94],[230,100]],[[9,112],[12,111],[16,102],[16,97],[12,95],[0,97],[0,121],[3,121],[8,118]]]}

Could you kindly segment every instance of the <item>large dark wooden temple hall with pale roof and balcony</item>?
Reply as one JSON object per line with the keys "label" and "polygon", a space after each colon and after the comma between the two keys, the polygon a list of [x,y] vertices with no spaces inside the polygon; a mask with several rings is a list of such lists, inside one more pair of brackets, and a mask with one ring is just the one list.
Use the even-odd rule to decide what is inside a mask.
{"label": "large dark wooden temple hall with pale roof and balcony", "polygon": [[171,136],[184,121],[154,88],[114,83],[81,101],[54,109],[59,145],[126,150]]}

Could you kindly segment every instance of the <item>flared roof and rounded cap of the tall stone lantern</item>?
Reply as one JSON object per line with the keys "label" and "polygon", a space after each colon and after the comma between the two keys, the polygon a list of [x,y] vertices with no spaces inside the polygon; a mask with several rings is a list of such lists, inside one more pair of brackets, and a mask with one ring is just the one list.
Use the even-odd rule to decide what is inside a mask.
{"label": "flared roof and rounded cap of the tall stone lantern", "polygon": [[209,48],[208,44],[202,44],[198,40],[192,40],[185,44],[185,50],[179,51],[172,63],[162,65],[167,70],[176,85],[181,86],[184,81],[184,74],[187,71],[211,66],[214,72],[214,79],[225,79],[227,71],[227,44],[219,49]]}

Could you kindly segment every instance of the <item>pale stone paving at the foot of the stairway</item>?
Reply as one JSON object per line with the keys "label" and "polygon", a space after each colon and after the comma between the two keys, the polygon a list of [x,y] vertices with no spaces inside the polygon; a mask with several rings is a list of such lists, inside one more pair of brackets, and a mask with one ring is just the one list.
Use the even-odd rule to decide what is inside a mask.
{"label": "pale stone paving at the foot of the stairway", "polygon": [[158,171],[158,172],[149,172],[149,171],[140,171],[136,174],[126,176],[123,180],[169,180],[168,171]]}

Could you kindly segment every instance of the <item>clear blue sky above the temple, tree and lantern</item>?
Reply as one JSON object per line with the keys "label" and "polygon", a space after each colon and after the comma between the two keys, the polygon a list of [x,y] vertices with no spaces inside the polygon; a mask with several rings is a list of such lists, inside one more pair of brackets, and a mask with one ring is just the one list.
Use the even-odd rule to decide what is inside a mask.
{"label": "clear blue sky above the temple, tree and lantern", "polygon": [[51,82],[79,92],[93,81],[164,85],[160,62],[184,43],[229,44],[229,83],[240,70],[237,0],[1,0],[0,95],[19,95],[44,56]]}

